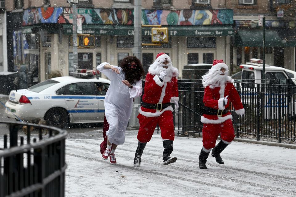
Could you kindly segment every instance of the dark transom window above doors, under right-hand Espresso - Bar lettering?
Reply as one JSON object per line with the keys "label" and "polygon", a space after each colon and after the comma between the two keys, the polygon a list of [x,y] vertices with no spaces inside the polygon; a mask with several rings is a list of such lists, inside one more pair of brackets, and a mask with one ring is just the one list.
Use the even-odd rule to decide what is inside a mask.
{"label": "dark transom window above doors, under right-hand Espresso - Bar lettering", "polygon": [[216,37],[188,37],[188,48],[216,48]]}

